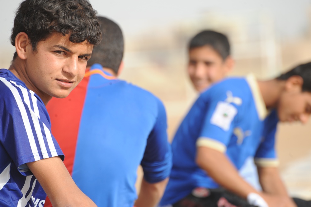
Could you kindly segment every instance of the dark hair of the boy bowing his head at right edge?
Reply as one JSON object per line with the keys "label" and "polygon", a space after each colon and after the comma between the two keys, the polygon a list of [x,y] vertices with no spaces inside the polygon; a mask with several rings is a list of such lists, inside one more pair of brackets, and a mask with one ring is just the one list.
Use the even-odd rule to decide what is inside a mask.
{"label": "dark hair of the boy bowing his head at right edge", "polygon": [[302,91],[311,92],[311,62],[298,65],[295,68],[281,74],[276,79],[287,80],[294,75],[298,75],[303,79],[304,83],[302,84]]}

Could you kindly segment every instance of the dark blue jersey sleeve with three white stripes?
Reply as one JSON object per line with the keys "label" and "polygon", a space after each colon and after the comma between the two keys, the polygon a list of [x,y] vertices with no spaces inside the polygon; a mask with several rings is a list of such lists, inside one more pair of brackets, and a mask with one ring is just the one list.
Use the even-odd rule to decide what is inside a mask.
{"label": "dark blue jersey sleeve with three white stripes", "polygon": [[[26,163],[64,155],[51,134],[49,115],[34,92],[2,81],[1,143],[23,175],[32,175]],[[3,86],[3,85],[2,85]]]}

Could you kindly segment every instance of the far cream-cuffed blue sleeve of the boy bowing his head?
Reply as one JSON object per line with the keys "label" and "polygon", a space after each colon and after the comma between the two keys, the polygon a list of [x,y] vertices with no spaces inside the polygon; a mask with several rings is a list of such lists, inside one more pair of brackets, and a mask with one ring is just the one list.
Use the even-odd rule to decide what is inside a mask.
{"label": "far cream-cuffed blue sleeve of the boy bowing his head", "polygon": [[254,156],[254,161],[257,166],[277,167],[279,165],[279,161],[275,150],[275,135],[277,126],[276,111],[272,112],[269,120],[266,121],[265,133]]}

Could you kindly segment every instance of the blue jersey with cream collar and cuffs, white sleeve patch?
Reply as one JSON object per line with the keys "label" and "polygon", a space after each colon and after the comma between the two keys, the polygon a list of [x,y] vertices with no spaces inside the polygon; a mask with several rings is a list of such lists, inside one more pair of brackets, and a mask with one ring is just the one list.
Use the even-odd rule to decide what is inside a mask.
{"label": "blue jersey with cream collar and cuffs, white sleeve patch", "polygon": [[210,87],[196,100],[175,134],[172,172],[160,204],[174,204],[195,187],[219,187],[196,164],[198,146],[224,152],[237,169],[249,156],[257,165],[276,165],[277,122],[276,110],[266,110],[254,76],[227,78]]}

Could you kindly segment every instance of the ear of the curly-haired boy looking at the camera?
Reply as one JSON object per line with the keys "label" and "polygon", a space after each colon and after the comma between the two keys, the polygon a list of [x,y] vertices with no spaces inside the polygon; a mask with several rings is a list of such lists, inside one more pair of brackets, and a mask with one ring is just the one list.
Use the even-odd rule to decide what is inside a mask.
{"label": "ear of the curly-haired boy looking at the camera", "polygon": [[27,52],[32,49],[28,35],[25,32],[20,32],[15,37],[15,49],[20,59],[27,59]]}

